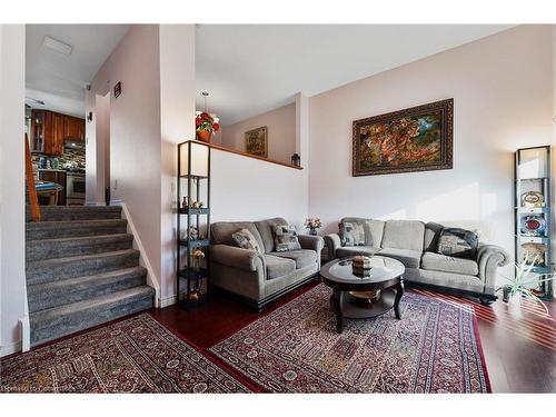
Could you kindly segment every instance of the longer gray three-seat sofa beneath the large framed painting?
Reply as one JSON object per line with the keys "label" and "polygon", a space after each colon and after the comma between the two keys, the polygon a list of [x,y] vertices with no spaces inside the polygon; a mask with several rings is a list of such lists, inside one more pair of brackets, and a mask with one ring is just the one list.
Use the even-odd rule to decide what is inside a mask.
{"label": "longer gray three-seat sofa beneath the large framed painting", "polygon": [[508,254],[495,245],[479,244],[476,259],[454,258],[437,252],[444,226],[417,220],[375,220],[346,217],[340,222],[360,222],[365,246],[341,246],[337,234],[325,237],[329,260],[354,255],[380,255],[406,267],[404,281],[478,297],[483,304],[496,299],[496,270]]}

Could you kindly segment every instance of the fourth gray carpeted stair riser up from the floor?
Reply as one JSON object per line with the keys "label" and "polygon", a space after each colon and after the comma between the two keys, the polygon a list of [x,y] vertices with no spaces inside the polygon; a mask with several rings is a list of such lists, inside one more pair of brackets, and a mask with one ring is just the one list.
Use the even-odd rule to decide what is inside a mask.
{"label": "fourth gray carpeted stair riser up from the floor", "polygon": [[116,250],[131,249],[133,239],[131,236],[113,238],[91,238],[87,240],[49,242],[44,240],[32,240],[27,244],[27,261],[63,258],[81,255],[93,255]]}

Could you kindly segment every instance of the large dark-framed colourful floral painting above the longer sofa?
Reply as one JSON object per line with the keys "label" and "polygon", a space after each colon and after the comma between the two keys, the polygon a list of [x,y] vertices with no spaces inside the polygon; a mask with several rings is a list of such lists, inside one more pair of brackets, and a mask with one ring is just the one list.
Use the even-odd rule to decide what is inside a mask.
{"label": "large dark-framed colourful floral painting above the longer sofa", "polygon": [[454,99],[354,121],[353,175],[453,168]]}

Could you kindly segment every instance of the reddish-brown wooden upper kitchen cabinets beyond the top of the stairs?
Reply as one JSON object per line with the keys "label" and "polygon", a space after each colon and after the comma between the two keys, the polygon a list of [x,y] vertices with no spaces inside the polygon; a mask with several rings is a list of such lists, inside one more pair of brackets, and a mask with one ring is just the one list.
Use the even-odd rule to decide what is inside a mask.
{"label": "reddish-brown wooden upper kitchen cabinets beyond the top of the stairs", "polygon": [[31,151],[46,155],[63,155],[64,140],[85,140],[85,119],[56,111],[31,111]]}

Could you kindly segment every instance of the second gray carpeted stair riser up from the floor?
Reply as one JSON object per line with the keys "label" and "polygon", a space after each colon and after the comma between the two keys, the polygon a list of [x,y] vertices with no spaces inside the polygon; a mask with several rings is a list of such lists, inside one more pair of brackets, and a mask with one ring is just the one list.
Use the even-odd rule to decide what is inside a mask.
{"label": "second gray carpeted stair riser up from the floor", "polygon": [[106,294],[120,291],[122,289],[139,287],[146,285],[145,275],[130,275],[122,278],[107,280],[100,285],[76,286],[75,288],[64,288],[59,291],[28,294],[29,312],[44,310],[64,306],[71,302],[82,301]]}

